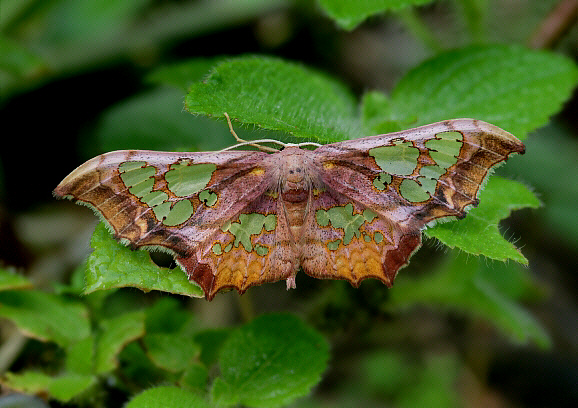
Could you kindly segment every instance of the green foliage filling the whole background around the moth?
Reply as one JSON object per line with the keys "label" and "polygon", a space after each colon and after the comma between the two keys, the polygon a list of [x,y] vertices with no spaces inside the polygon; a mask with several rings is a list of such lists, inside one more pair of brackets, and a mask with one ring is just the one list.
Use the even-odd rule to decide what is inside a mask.
{"label": "green foliage filling the whole background around the moth", "polygon": [[[543,384],[578,378],[578,29],[524,46],[564,24],[557,5],[2,0],[0,405],[538,406],[522,373],[547,360],[536,388],[575,406]],[[527,153],[390,290],[300,274],[206,303],[170,259],[52,202],[105,151],[231,145],[223,112],[243,138],[322,143],[475,117]],[[508,371],[519,350],[534,358]]]}

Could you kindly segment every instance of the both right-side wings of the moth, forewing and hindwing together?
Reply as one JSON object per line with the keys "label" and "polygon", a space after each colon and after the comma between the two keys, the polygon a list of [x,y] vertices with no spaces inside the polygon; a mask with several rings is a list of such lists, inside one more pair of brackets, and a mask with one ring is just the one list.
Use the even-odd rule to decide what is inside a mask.
{"label": "both right-side wings of the moth, forewing and hindwing together", "polygon": [[524,145],[491,124],[456,119],[322,146],[315,167],[322,188],[312,200],[303,269],[357,285],[391,285],[442,217],[462,218],[478,204],[491,168]]}

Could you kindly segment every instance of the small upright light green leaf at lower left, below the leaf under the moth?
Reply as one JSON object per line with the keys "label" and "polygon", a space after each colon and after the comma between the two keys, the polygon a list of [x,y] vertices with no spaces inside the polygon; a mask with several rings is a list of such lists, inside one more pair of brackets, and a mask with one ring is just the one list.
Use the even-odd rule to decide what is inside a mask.
{"label": "small upright light green leaf at lower left, below the leaf under the moth", "polygon": [[144,319],[144,312],[137,311],[100,320],[95,356],[97,374],[118,367],[117,356],[122,349],[131,341],[144,336]]}

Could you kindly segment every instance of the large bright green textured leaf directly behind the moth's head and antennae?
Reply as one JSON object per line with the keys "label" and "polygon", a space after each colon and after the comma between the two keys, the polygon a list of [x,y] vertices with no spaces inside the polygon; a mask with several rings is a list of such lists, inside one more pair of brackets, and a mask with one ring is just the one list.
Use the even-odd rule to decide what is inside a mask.
{"label": "large bright green textured leaf directly behind the moth's head and antennae", "polygon": [[186,97],[191,113],[224,117],[313,141],[362,135],[357,104],[338,81],[309,68],[267,57],[218,64]]}

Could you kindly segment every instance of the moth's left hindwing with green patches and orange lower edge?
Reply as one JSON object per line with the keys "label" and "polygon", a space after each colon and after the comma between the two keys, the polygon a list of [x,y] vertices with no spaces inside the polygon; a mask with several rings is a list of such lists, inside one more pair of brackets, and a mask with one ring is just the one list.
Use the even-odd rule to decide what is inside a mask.
{"label": "moth's left hindwing with green patches and orange lower edge", "polygon": [[244,293],[249,287],[294,277],[298,253],[284,211],[273,191],[252,200],[198,249],[177,262],[211,300],[225,288]]}

